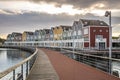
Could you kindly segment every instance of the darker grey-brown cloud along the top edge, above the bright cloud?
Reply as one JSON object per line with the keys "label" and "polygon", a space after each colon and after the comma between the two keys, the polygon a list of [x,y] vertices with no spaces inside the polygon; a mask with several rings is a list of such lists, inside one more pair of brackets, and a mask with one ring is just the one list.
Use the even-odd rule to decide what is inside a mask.
{"label": "darker grey-brown cloud along the top edge, above the bright cloud", "polygon": [[29,0],[32,2],[45,1],[47,3],[56,3],[59,5],[71,4],[78,8],[88,8],[94,4],[103,3],[107,8],[120,8],[119,0]]}

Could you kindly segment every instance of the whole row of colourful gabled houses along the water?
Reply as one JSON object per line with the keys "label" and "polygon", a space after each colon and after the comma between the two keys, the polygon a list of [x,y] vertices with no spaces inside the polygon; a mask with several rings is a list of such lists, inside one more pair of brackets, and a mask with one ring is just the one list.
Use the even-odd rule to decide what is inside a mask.
{"label": "whole row of colourful gabled houses along the water", "polygon": [[[109,47],[109,26],[101,20],[79,19],[72,26],[60,25],[51,29],[40,29],[34,32],[13,32],[7,36],[7,41],[57,41],[83,40],[84,47],[95,47],[102,42],[102,47]],[[103,43],[104,42],[104,43]]]}

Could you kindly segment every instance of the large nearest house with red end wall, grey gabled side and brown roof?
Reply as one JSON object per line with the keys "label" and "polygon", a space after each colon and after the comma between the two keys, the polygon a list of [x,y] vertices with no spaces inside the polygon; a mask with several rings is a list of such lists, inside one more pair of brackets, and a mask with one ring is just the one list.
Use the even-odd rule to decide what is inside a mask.
{"label": "large nearest house with red end wall, grey gabled side and brown roof", "polygon": [[84,39],[84,47],[109,47],[109,27],[104,21],[80,19],[72,29],[74,39]]}

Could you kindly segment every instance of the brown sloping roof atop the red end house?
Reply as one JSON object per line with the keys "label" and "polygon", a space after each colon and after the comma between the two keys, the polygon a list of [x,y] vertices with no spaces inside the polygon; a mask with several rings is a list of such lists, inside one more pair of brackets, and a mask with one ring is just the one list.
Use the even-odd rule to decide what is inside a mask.
{"label": "brown sloping roof atop the red end house", "polygon": [[87,20],[87,19],[80,19],[82,24],[85,26],[108,26],[107,23],[100,20]]}

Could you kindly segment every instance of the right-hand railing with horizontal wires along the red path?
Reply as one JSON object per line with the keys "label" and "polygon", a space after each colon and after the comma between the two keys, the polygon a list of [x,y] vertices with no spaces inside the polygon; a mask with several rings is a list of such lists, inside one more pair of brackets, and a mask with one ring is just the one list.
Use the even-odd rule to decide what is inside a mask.
{"label": "right-hand railing with horizontal wires along the red path", "polygon": [[[75,60],[90,65],[94,68],[100,69],[102,71],[105,71],[109,74],[111,74],[109,72],[109,70],[111,69],[112,75],[120,78],[120,59],[85,54],[75,51],[73,53],[73,51],[70,50],[64,50],[64,51],[65,51],[64,54],[69,56],[70,58],[73,58],[73,54],[74,54]],[[115,66],[114,63],[116,63],[117,66]],[[109,65],[111,65],[111,67]]]}

